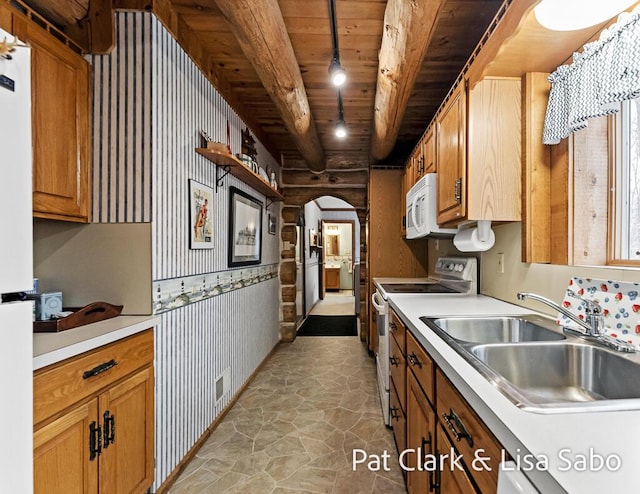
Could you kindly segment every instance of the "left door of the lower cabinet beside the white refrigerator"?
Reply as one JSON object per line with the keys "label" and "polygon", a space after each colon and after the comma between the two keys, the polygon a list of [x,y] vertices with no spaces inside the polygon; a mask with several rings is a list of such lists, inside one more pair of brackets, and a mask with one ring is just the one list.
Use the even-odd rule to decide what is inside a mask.
{"label": "left door of the lower cabinet beside the white refrigerator", "polygon": [[[34,492],[98,492],[98,458],[91,458],[90,430],[97,428],[98,401],[91,400],[33,434]],[[97,436],[94,437],[97,439]]]}

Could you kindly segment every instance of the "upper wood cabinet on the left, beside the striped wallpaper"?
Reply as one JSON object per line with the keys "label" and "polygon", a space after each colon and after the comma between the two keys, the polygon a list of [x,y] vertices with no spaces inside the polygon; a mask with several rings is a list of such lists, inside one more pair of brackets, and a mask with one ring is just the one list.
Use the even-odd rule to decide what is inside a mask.
{"label": "upper wood cabinet on the left, beside the striped wallpaper", "polygon": [[90,65],[45,29],[14,15],[31,45],[33,214],[89,222]]}

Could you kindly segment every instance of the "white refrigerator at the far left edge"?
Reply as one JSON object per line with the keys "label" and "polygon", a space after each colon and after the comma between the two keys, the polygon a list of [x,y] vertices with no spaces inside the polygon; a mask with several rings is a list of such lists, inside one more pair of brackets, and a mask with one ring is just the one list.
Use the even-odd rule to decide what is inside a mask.
{"label": "white refrigerator at the far left edge", "polygon": [[[0,293],[33,286],[30,56],[0,56]],[[0,302],[0,492],[33,492],[32,348],[32,303]]]}

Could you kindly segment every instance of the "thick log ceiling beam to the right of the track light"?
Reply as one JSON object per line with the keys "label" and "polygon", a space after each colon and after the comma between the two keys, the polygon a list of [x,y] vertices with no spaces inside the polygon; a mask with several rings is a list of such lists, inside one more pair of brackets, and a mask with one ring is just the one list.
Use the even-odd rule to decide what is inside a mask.
{"label": "thick log ceiling beam to the right of the track light", "polygon": [[386,158],[398,137],[411,90],[444,0],[389,0],[384,14],[371,157]]}

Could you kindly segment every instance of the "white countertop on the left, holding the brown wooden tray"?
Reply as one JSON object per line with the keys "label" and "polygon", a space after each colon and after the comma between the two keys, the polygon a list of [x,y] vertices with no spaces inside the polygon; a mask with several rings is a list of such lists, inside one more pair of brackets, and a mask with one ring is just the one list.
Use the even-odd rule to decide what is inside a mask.
{"label": "white countertop on the left, holding the brown wooden tray", "polygon": [[59,333],[34,333],[33,370],[140,333],[159,321],[155,316],[118,316]]}

